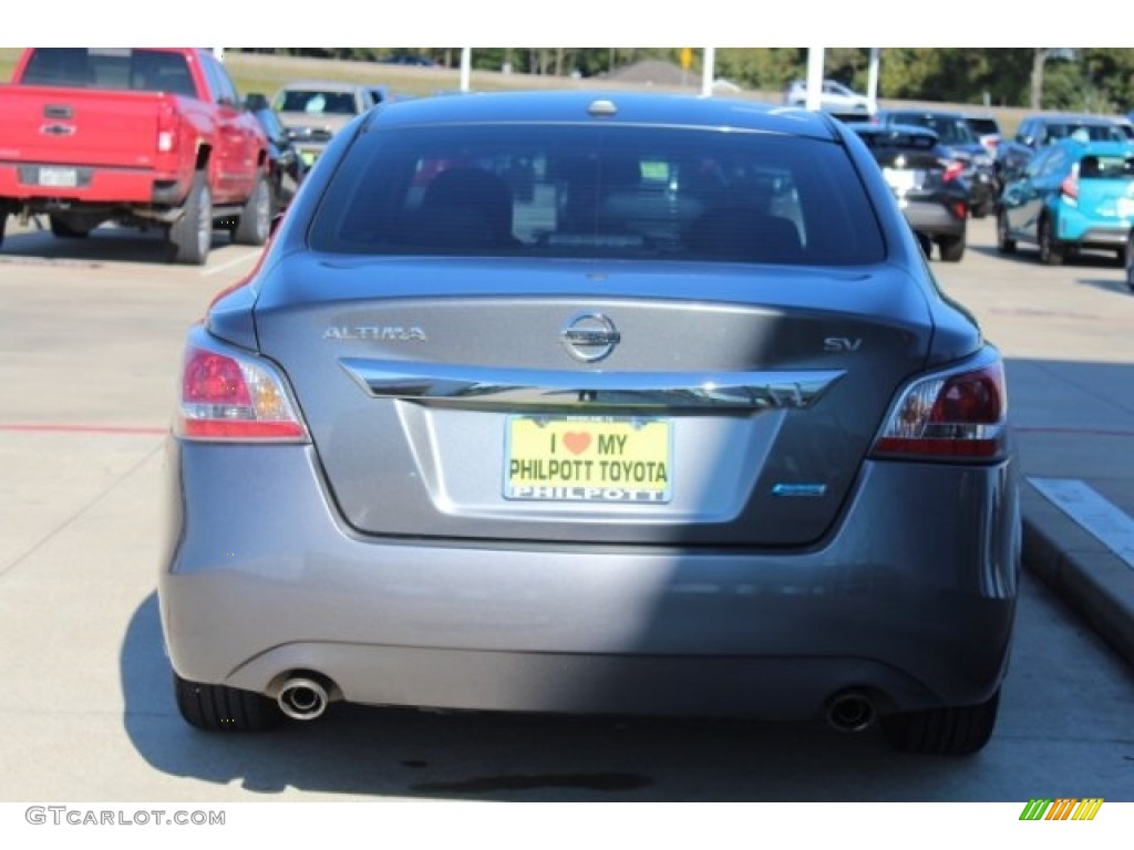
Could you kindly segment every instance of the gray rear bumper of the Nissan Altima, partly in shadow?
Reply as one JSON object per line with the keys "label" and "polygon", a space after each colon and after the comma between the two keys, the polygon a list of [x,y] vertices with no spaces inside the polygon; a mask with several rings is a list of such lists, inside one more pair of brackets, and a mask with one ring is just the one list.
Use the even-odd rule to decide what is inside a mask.
{"label": "gray rear bumper of the Nissan Altima, partly in shadow", "polygon": [[778,552],[379,539],[341,524],[308,447],[174,443],[170,464],[159,595],[193,681],[274,696],[308,671],[362,704],[802,719],[845,690],[975,704],[1005,672],[1008,464],[868,464],[826,541]]}

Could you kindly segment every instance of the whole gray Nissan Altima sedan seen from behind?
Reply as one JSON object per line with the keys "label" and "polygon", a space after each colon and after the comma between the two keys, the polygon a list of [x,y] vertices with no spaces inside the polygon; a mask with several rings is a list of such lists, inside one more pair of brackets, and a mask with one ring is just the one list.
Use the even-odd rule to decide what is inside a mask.
{"label": "whole gray Nissan Altima sedan seen from behind", "polygon": [[195,726],[344,700],[992,733],[1004,364],[830,117],[379,107],[179,386],[159,596]]}

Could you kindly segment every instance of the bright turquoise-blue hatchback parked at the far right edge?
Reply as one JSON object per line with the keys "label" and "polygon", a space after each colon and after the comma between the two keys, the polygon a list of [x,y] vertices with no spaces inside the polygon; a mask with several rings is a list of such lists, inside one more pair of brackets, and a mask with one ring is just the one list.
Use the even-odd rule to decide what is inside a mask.
{"label": "bright turquoise-blue hatchback parked at the far right edge", "polygon": [[1134,224],[1134,144],[1057,142],[1035,154],[1004,188],[997,247],[1035,245],[1040,262],[1059,265],[1080,250],[1109,250],[1126,260]]}

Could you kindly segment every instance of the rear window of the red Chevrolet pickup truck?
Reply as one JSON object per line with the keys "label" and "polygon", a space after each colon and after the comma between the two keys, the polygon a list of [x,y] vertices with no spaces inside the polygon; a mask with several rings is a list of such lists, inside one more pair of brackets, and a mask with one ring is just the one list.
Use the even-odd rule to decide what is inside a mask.
{"label": "rear window of the red Chevrolet pickup truck", "polygon": [[129,48],[36,48],[20,83],[196,95],[181,53]]}

